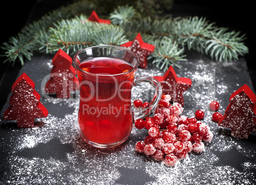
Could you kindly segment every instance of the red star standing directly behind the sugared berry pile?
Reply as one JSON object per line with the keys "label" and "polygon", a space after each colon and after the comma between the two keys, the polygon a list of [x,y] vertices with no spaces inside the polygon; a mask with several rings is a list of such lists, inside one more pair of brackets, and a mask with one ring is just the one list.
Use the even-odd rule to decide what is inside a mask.
{"label": "red star standing directly behind the sugared berry pile", "polygon": [[164,76],[154,77],[162,86],[162,94],[169,94],[171,100],[184,106],[183,93],[191,87],[191,79],[178,78],[173,67],[170,66]]}

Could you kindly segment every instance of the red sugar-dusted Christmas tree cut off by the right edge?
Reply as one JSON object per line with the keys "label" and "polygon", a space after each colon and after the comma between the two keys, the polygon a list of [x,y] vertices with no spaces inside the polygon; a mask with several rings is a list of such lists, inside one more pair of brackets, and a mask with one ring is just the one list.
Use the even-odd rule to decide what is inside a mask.
{"label": "red sugar-dusted Christmas tree cut off by the right edge", "polygon": [[250,132],[256,132],[256,96],[246,84],[229,98],[229,105],[218,125],[231,129],[231,136],[247,139]]}

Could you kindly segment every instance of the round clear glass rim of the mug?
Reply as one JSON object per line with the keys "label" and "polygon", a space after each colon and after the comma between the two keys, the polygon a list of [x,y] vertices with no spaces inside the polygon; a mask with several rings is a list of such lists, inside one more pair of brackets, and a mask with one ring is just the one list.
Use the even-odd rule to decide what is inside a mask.
{"label": "round clear glass rim of the mug", "polygon": [[[76,63],[76,57],[78,56],[78,54],[82,53],[82,51],[85,51],[85,50],[88,50],[88,49],[94,49],[94,48],[115,48],[115,49],[122,49],[124,51],[127,51],[128,53],[132,54],[132,56],[134,56],[134,58],[136,59],[136,65],[134,65],[134,67],[132,67],[127,72],[117,73],[117,74],[112,74],[112,75],[111,74],[97,74],[97,73],[91,73],[91,72],[87,72],[85,70],[82,70],[82,68],[80,68],[79,65]],[[129,50],[127,48],[122,48],[120,46],[100,45],[100,46],[90,46],[89,48],[84,48],[84,49],[81,49],[80,51],[78,51],[75,54],[75,56],[73,57],[73,64],[82,73],[89,74],[89,75],[95,75],[95,76],[102,76],[102,77],[111,77],[111,76],[117,76],[117,75],[126,75],[126,74],[131,73],[132,71],[136,70],[139,67],[139,58],[138,58],[138,56],[135,53],[133,53],[131,50]]]}

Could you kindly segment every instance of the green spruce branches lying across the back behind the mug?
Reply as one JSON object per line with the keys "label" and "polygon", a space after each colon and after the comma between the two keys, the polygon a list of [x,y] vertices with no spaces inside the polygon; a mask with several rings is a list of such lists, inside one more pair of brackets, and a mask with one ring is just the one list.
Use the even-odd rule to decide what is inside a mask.
{"label": "green spruce branches lying across the back behind the mug", "polygon": [[104,10],[97,9],[96,3],[92,1],[78,1],[52,11],[3,44],[6,61],[12,61],[14,64],[18,59],[23,64],[24,57],[31,60],[32,54],[36,51],[54,53],[61,48],[67,53],[74,54],[89,46],[120,46],[132,41],[138,32],[141,33],[143,41],[155,46],[155,51],[149,58],[152,58],[155,67],[163,70],[167,70],[169,65],[181,67],[177,61],[186,60],[183,54],[185,48],[208,54],[217,61],[238,60],[238,56],[248,53],[248,48],[243,43],[245,35],[240,36],[239,32],[218,28],[215,23],[209,23],[206,18],[197,16],[148,16],[145,15],[147,11],[155,15],[161,15],[162,11],[157,6],[146,7],[143,1],[136,1],[136,4],[135,8],[118,5],[109,16],[104,14],[110,18],[110,25],[87,20],[92,10],[96,10],[101,18],[104,17],[101,16]]}

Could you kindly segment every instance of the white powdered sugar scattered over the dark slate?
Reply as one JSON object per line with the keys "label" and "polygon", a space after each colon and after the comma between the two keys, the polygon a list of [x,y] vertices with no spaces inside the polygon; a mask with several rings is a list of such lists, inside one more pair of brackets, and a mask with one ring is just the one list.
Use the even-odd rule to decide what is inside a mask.
{"label": "white powdered sugar scattered over the dark slate", "polygon": [[[164,163],[134,150],[136,141],[144,139],[147,135],[144,129],[136,128],[122,146],[110,150],[92,148],[85,144],[76,129],[78,98],[62,101],[41,98],[43,105],[53,106],[52,110],[61,105],[63,111],[70,108],[73,112],[66,113],[63,117],[49,112],[48,117],[39,118],[38,124],[33,128],[10,128],[10,138],[13,139],[10,141],[11,151],[5,164],[9,170],[0,184],[252,184],[256,181],[253,173],[256,170],[256,151],[250,150],[254,143],[251,148],[245,148],[245,140],[241,141],[225,134],[227,131],[218,128],[217,124],[211,121],[213,112],[208,110],[206,105],[206,102],[213,100],[209,87],[214,86],[216,96],[222,97],[222,94],[227,93],[229,84],[220,77],[215,81],[215,75],[209,69],[207,71],[203,63],[193,66],[196,66],[194,70],[198,71],[184,67],[176,73],[192,80],[192,88],[184,94],[183,115],[194,117],[196,108],[204,106],[203,122],[213,131],[213,140],[206,144],[203,153],[190,153],[175,167],[167,167]],[[162,74],[163,72],[156,69],[138,69],[136,75]],[[197,84],[199,89],[193,87],[194,84]],[[139,90],[140,88],[135,89],[132,96],[141,96]],[[224,103],[223,99],[218,101],[220,105]],[[224,113],[225,106],[220,107],[220,112]],[[220,164],[222,156],[232,150],[246,159],[241,160],[240,164],[236,161],[234,165]],[[30,151],[34,152],[34,155],[31,156]]]}

